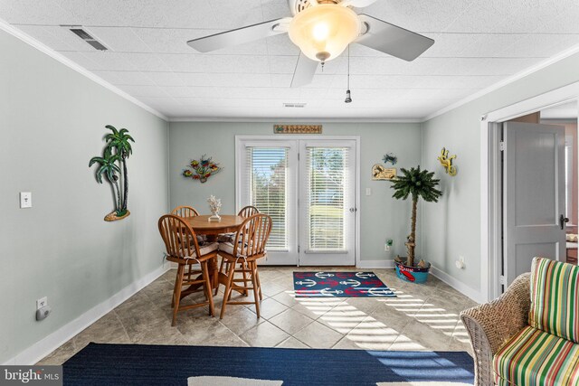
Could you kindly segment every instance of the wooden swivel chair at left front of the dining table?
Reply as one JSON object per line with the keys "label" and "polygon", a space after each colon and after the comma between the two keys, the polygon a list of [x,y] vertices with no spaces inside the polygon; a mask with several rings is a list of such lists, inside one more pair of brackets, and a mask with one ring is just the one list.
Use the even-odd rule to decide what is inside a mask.
{"label": "wooden swivel chair at left front of the dining table", "polygon": [[[219,244],[197,242],[195,231],[179,216],[166,214],[158,221],[159,232],[165,242],[166,259],[177,263],[175,287],[173,289],[173,322],[176,325],[177,312],[189,308],[209,306],[209,313],[214,316],[214,297],[209,277],[208,261],[217,256]],[[200,268],[196,268],[195,265]],[[186,287],[184,289],[184,287]],[[187,295],[203,290],[205,301],[194,305],[180,306]]]}

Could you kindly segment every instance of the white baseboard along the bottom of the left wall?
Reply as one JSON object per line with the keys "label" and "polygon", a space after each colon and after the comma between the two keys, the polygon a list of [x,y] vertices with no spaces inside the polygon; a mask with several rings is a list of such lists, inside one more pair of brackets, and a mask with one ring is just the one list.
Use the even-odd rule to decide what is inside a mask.
{"label": "white baseboard along the bottom of the left wall", "polygon": [[164,263],[161,267],[147,274],[144,278],[140,278],[127,287],[124,287],[118,293],[112,297],[109,297],[109,299],[105,300],[97,306],[90,308],[90,310],[67,323],[66,325],[63,325],[52,334],[44,337],[41,341],[38,341],[32,346],[24,349],[23,352],[15,355],[14,358],[5,362],[4,365],[32,365],[40,361],[46,355],[52,353],[58,347],[62,346],[62,344],[68,342],[74,335],[79,334],[82,330],[92,325],[102,316],[108,314],[113,308],[119,306],[121,303],[138,293],[138,291],[144,287],[147,287],[150,283],[163,275],[169,268],[169,264]]}

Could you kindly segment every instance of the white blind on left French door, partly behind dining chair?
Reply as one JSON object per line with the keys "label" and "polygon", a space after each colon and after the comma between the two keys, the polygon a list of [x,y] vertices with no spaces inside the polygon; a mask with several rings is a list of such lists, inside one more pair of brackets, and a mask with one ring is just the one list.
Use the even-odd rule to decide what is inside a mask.
{"label": "white blind on left French door, partly behind dining chair", "polygon": [[273,221],[268,249],[288,249],[288,147],[246,147],[251,205]]}

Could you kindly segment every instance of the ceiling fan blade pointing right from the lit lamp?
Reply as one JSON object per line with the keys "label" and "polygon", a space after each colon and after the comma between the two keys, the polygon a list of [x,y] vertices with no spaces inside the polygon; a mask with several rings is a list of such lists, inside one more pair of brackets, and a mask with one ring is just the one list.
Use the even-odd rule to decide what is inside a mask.
{"label": "ceiling fan blade pointing right from the lit lamp", "polygon": [[404,61],[413,61],[434,44],[431,38],[413,33],[386,23],[367,14],[359,14],[360,21],[367,27],[365,34],[356,39],[379,52],[384,52]]}

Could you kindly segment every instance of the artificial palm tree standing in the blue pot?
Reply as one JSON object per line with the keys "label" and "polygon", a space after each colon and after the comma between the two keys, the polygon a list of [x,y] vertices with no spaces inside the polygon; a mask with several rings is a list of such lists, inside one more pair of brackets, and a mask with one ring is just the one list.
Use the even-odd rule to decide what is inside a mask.
{"label": "artificial palm tree standing in the blue pot", "polygon": [[438,202],[442,192],[436,187],[441,180],[433,178],[434,173],[427,170],[420,170],[420,166],[410,170],[401,168],[402,175],[396,177],[391,188],[394,189],[392,195],[395,199],[406,200],[409,196],[413,201],[413,212],[411,231],[406,240],[406,249],[408,256],[406,256],[407,267],[414,267],[414,249],[416,248],[416,215],[418,210],[418,200],[422,197],[425,202]]}

